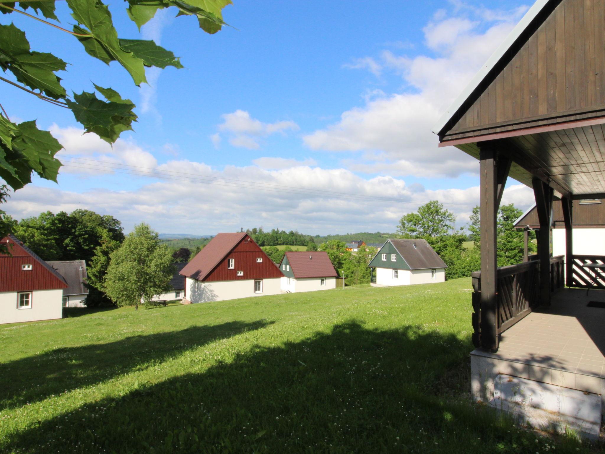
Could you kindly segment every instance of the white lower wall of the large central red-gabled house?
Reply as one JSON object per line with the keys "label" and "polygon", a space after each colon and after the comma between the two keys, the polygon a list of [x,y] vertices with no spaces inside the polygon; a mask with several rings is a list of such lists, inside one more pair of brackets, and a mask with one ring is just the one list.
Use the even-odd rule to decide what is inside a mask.
{"label": "white lower wall of the large central red-gabled house", "polygon": [[186,279],[186,298],[192,303],[235,300],[236,298],[260,297],[281,293],[281,278],[263,279],[263,292],[254,292],[254,280],[200,282]]}

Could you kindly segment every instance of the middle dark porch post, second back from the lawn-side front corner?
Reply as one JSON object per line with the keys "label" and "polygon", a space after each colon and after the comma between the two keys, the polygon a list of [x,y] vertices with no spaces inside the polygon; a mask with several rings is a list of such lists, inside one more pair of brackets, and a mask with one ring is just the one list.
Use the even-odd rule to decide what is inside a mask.
{"label": "middle dark porch post, second back from the lawn-side front corner", "polygon": [[540,230],[537,232],[540,260],[540,303],[551,305],[551,213],[554,190],[537,178],[532,180]]}

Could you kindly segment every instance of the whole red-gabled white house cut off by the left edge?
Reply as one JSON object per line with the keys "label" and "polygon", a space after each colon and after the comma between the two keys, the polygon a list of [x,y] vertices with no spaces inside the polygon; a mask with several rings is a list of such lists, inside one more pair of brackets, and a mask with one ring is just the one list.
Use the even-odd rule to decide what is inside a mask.
{"label": "whole red-gabled white house cut off by the left edge", "polygon": [[65,278],[13,235],[0,242],[0,323],[61,318]]}

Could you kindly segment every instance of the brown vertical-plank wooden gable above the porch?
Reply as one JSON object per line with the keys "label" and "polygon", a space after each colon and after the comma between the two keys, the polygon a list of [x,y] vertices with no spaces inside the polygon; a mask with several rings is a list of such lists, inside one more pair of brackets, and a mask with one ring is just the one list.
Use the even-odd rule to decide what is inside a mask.
{"label": "brown vertical-plank wooden gable above the porch", "polygon": [[605,0],[552,0],[439,131],[440,140],[605,116]]}

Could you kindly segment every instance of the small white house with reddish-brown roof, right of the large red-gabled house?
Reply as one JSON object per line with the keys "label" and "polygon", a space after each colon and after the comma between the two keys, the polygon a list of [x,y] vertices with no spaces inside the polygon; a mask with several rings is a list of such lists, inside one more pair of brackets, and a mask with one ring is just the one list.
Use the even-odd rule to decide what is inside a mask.
{"label": "small white house with reddish-brown roof, right of the large red-gabled house", "polygon": [[280,263],[284,292],[312,292],[336,288],[338,273],[324,251],[286,252]]}

